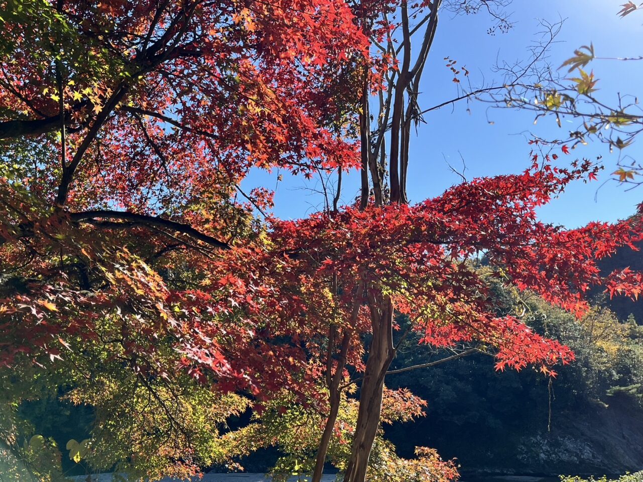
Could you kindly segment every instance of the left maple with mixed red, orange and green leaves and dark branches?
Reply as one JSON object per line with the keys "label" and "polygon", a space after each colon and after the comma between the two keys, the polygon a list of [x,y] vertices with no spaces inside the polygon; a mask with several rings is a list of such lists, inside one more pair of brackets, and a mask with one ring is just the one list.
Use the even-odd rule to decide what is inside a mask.
{"label": "left maple with mixed red, orange and green leaves and dark branches", "polygon": [[[0,11],[0,364],[33,362],[51,391],[95,408],[92,448],[78,443],[93,467],[193,474],[221,461],[216,425],[247,400],[199,379],[204,394],[181,370],[170,298],[209,279],[191,271],[203,258],[258,235],[252,211],[271,196],[240,189],[251,167],[355,165],[350,84],[337,79],[365,39],[336,0]],[[101,371],[91,357],[107,373],[86,379]],[[22,380],[3,400],[12,417],[36,396]],[[55,459],[50,441],[23,447],[16,427],[3,438],[18,459],[34,447]]]}

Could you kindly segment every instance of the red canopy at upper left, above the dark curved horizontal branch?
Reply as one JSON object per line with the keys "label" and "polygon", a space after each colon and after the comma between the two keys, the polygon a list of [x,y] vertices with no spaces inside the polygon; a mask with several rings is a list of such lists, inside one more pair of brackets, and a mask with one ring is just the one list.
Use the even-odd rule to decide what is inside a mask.
{"label": "red canopy at upper left, above the dark curved horizontal branch", "polygon": [[[42,17],[56,4],[44,3]],[[103,122],[84,154],[91,161],[75,173],[70,208],[169,210],[204,193],[226,199],[251,166],[358,165],[356,146],[338,130],[338,90],[352,87],[333,80],[368,55],[367,39],[343,0],[69,0],[60,19],[12,20],[0,120],[55,118],[62,102],[68,164],[87,129]],[[58,51],[35,49],[66,55],[54,65]],[[59,167],[40,161],[51,188]]]}

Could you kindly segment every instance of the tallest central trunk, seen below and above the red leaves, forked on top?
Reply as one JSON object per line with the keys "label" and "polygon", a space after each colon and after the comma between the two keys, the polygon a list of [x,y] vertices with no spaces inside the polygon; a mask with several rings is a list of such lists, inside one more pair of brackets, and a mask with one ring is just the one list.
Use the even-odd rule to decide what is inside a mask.
{"label": "tallest central trunk, seen below and above the red leaves, forked on top", "polygon": [[[384,139],[386,130],[390,129],[390,146],[388,148],[388,187],[390,189],[390,195],[388,204],[408,202],[406,181],[408,179],[410,128],[411,122],[413,121],[414,109],[417,109],[417,94],[422,69],[424,68],[428,53],[433,44],[433,39],[435,38],[440,4],[441,0],[433,1],[430,15],[424,20],[428,21],[428,25],[424,31],[424,39],[422,39],[422,45],[413,66],[411,64],[411,37],[415,29],[411,30],[410,28],[408,0],[402,0],[400,4],[402,41],[398,48],[391,47],[391,49],[393,53],[403,51],[403,58],[397,71],[397,82],[393,81],[395,74],[392,75],[392,77],[388,79],[389,87],[387,89],[386,100],[384,100],[383,95],[380,96],[380,102],[385,102],[385,105],[381,105],[380,107],[380,117],[378,118],[379,134],[373,141],[375,152],[372,153],[372,156],[379,154],[379,159],[376,159],[374,165],[382,165],[382,171],[384,172],[386,165]],[[424,21],[422,21],[421,24],[424,23]],[[392,45],[392,40],[389,39],[389,46]],[[404,93],[407,89],[409,99],[408,109],[405,115]],[[363,110],[363,112],[365,111]],[[391,116],[390,128],[388,127],[389,115]],[[369,118],[360,118],[361,129],[365,129],[363,121],[368,119]],[[362,156],[363,168],[364,160],[364,156]],[[374,175],[373,173],[371,173],[371,175],[374,178],[375,184],[378,175]],[[365,209],[367,206],[367,203],[364,202],[365,188],[368,188],[368,179],[365,180],[363,178],[361,209]],[[384,378],[388,367],[395,357],[395,346],[393,344],[393,303],[390,297],[381,294],[381,292],[379,296],[376,296],[371,291],[368,293],[368,305],[370,307],[373,339],[368,350],[368,359],[360,388],[358,421],[344,482],[365,481],[368,469],[368,458],[370,457],[370,451],[377,436],[377,429],[379,429]]]}

